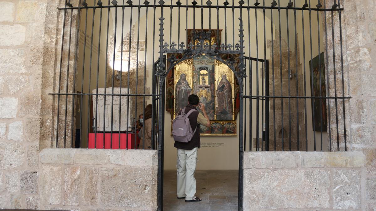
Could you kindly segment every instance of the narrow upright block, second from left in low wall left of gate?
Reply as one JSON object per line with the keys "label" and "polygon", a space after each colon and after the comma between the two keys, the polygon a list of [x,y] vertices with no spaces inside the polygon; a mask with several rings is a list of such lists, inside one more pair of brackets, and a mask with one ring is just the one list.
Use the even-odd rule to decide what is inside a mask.
{"label": "narrow upright block, second from left in low wall left of gate", "polygon": [[[80,174],[78,166],[67,166],[64,169],[63,205],[78,205],[80,199]],[[86,185],[86,184],[85,184]]]}

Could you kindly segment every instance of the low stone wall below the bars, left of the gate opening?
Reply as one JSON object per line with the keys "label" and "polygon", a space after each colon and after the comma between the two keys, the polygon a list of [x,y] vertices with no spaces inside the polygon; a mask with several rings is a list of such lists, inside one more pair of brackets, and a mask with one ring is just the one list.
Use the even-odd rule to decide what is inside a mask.
{"label": "low stone wall below the bars, left of the gate opening", "polygon": [[38,187],[25,184],[39,189],[39,209],[156,210],[157,151],[44,149],[40,163],[26,175]]}

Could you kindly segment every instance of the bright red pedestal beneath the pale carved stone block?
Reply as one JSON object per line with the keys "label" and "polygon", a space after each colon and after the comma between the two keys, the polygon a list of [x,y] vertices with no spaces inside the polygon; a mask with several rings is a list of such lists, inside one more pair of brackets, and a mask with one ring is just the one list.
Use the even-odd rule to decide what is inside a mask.
{"label": "bright red pedestal beneath the pale carved stone block", "polygon": [[[97,145],[95,146],[95,133],[89,133],[89,149],[103,149],[103,133],[97,133]],[[136,143],[138,144],[138,143]],[[135,149],[135,134],[120,133],[120,149]],[[105,133],[105,149],[111,149],[111,133]],[[112,149],[119,149],[119,133],[112,133]]]}

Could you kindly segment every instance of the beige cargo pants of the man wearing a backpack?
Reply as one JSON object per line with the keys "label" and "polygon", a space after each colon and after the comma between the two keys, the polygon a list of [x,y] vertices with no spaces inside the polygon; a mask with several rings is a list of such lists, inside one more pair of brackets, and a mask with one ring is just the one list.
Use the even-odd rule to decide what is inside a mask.
{"label": "beige cargo pants of the man wearing a backpack", "polygon": [[185,200],[196,198],[196,163],[197,147],[192,150],[177,149],[177,197],[185,197]]}

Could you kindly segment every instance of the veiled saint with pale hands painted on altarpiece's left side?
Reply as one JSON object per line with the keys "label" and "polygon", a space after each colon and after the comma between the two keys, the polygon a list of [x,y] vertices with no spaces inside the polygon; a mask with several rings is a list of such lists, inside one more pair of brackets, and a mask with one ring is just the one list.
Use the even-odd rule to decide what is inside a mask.
{"label": "veiled saint with pale hands painted on altarpiece's left side", "polygon": [[188,96],[192,92],[192,87],[189,85],[188,81],[186,80],[186,74],[180,74],[180,78],[175,85],[175,96],[177,99],[177,108],[176,110],[179,111],[183,109],[186,105],[188,105]]}

